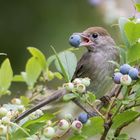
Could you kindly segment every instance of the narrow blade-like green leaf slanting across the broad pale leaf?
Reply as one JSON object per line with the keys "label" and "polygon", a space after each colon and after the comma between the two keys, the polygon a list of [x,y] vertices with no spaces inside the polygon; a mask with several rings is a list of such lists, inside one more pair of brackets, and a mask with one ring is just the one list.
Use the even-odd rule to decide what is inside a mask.
{"label": "narrow blade-like green leaf slanting across the broad pale leaf", "polygon": [[58,64],[59,64],[59,68],[61,68],[61,72],[62,72],[62,74],[64,75],[64,78],[65,78],[66,82],[69,82],[70,79],[69,79],[69,76],[68,76],[68,74],[67,74],[67,71],[66,71],[65,68],[64,68],[64,65],[62,64],[62,62],[61,62],[61,60],[60,60],[60,58],[59,58],[57,52],[55,51],[55,49],[54,49],[53,47],[52,47],[52,50],[53,50],[54,53],[55,53],[56,59],[57,59]]}

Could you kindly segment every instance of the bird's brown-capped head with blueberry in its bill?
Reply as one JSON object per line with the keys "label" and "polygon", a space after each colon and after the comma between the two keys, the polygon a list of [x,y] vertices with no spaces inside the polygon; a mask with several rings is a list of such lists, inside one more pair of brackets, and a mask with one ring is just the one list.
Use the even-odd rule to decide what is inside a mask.
{"label": "bird's brown-capped head with blueberry in its bill", "polygon": [[106,50],[115,45],[107,30],[102,27],[90,27],[82,33],[73,33],[69,42],[74,47],[84,46],[90,51]]}

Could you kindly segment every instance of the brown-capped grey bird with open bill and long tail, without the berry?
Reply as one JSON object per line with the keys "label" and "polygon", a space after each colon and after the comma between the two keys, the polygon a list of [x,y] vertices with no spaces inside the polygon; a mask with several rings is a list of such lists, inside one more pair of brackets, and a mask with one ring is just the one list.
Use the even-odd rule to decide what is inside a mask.
{"label": "brown-capped grey bird with open bill and long tail, without the berry", "polygon": [[[77,68],[72,79],[89,77],[91,79],[90,91],[93,91],[98,98],[102,97],[113,86],[111,77],[115,65],[109,61],[119,63],[119,51],[116,48],[116,44],[109,33],[102,27],[91,27],[82,33],[75,34],[81,37],[79,46],[86,47],[87,52],[83,54],[77,63]],[[55,91],[49,98],[21,114],[16,118],[15,122],[44,105],[61,98],[65,93],[66,90],[64,89]],[[77,101],[74,102],[80,106]]]}

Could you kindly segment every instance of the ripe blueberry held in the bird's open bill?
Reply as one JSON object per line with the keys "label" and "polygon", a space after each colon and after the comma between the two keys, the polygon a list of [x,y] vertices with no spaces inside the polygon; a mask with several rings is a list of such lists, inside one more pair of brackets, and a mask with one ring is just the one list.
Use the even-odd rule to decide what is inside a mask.
{"label": "ripe blueberry held in the bird's open bill", "polygon": [[69,43],[74,47],[79,47],[81,43],[81,37],[79,35],[73,34],[69,38]]}

